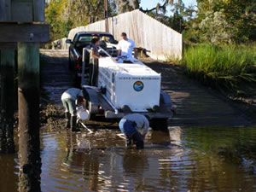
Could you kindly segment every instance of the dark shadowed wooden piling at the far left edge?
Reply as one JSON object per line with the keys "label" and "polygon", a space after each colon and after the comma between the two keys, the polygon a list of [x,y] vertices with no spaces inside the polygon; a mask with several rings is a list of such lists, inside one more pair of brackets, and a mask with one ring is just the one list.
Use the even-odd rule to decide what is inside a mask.
{"label": "dark shadowed wooden piling at the far left edge", "polygon": [[2,49],[0,57],[0,82],[2,89],[0,96],[0,153],[12,153],[15,151],[15,50]]}

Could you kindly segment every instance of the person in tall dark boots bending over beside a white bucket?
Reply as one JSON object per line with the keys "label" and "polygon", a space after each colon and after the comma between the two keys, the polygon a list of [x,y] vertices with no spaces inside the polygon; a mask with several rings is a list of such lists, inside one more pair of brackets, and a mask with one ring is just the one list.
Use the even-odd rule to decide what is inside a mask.
{"label": "person in tall dark boots bending over beside a white bucket", "polygon": [[77,110],[76,110],[76,100],[79,104],[84,105],[83,90],[76,88],[70,88],[66,90],[61,96],[61,102],[65,108],[65,119],[66,128],[71,128],[72,131],[80,131],[77,128]]}

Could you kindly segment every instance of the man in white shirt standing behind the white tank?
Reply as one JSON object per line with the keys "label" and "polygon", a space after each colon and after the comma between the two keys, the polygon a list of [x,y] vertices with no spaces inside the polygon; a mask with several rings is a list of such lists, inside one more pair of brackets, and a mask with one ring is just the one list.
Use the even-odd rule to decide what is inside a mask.
{"label": "man in white shirt standing behind the white tank", "polygon": [[121,37],[122,40],[119,41],[117,46],[118,55],[127,56],[127,58],[132,58],[132,50],[134,50],[134,57],[137,58],[137,49],[134,41],[130,38],[127,38],[125,32],[122,32]]}

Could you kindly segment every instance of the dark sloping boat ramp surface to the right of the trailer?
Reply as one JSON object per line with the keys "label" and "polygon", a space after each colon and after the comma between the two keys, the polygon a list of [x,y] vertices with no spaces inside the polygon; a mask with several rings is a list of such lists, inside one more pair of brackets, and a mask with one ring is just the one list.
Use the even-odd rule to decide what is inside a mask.
{"label": "dark sloping boat ramp surface to the right of the trailer", "polygon": [[185,75],[182,67],[150,59],[143,62],[162,75],[162,89],[169,92],[177,108],[177,115],[174,119],[180,118],[181,120],[172,123],[178,125],[255,125],[256,88],[253,89],[253,86],[250,86],[250,89],[244,87],[244,96],[230,96],[228,92],[214,90],[195,79],[190,79]]}

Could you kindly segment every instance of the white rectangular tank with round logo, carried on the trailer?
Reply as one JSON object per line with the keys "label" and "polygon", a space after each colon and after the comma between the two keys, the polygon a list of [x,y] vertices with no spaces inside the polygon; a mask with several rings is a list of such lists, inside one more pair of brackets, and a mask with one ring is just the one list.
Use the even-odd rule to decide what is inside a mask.
{"label": "white rectangular tank with round logo, carried on the trailer", "polygon": [[[120,59],[121,60],[121,59]],[[98,88],[106,88],[106,98],[114,108],[148,112],[160,106],[160,73],[136,59],[117,63],[112,58],[99,59]]]}

